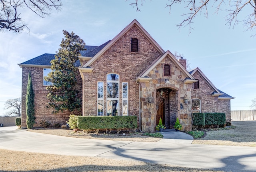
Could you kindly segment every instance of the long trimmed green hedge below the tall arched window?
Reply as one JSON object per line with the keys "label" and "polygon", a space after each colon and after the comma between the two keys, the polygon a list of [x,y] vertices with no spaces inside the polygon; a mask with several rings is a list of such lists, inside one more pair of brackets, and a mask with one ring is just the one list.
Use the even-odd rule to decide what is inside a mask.
{"label": "long trimmed green hedge below the tall arched window", "polygon": [[137,116],[78,116],[80,130],[136,129]]}

